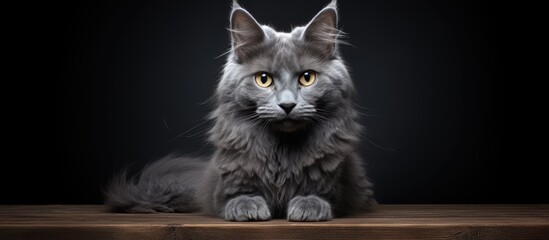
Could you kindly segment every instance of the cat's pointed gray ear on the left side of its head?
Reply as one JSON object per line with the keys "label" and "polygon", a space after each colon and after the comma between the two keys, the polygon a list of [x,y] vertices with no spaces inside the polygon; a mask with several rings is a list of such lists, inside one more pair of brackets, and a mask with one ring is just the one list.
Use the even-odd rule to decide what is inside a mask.
{"label": "cat's pointed gray ear on the left side of its head", "polygon": [[245,60],[252,51],[265,39],[263,29],[244,8],[236,1],[231,12],[232,51],[239,60]]}

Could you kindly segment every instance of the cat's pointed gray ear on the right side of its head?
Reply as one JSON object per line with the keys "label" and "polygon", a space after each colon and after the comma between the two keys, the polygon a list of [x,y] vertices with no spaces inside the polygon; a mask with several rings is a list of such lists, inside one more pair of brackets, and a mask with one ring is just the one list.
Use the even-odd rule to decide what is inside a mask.
{"label": "cat's pointed gray ear on the right side of its head", "polygon": [[302,38],[331,57],[336,51],[338,34],[337,1],[334,0],[307,24]]}

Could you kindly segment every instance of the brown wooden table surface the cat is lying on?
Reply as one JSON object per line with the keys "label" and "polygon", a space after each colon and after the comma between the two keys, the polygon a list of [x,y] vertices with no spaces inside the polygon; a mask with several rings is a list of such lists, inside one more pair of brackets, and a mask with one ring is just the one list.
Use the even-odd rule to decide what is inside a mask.
{"label": "brown wooden table surface the cat is lying on", "polygon": [[3,205],[0,239],[549,239],[549,205],[380,205],[319,223],[115,214],[100,205]]}

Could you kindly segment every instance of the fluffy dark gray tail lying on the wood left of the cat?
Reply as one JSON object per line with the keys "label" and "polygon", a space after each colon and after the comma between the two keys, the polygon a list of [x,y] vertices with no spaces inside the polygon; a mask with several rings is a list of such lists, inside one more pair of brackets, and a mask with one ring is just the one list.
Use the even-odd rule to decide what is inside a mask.
{"label": "fluffy dark gray tail lying on the wood left of the cat", "polygon": [[105,204],[114,212],[199,211],[196,190],[207,165],[205,159],[168,156],[136,177],[128,178],[124,171],[109,184]]}

